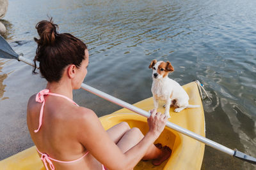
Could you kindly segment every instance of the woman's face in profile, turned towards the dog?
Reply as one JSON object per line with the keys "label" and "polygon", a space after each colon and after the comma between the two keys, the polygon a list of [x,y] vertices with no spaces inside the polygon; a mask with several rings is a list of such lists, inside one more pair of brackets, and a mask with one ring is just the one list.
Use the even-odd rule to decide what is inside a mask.
{"label": "woman's face in profile, turned towards the dog", "polygon": [[85,59],[82,61],[81,63],[81,66],[79,67],[79,69],[77,69],[77,88],[76,89],[79,89],[81,87],[81,84],[83,83],[84,81],[84,78],[87,74],[87,67],[88,67],[88,64],[89,64],[89,52],[88,50],[84,50],[84,55],[85,55]]}

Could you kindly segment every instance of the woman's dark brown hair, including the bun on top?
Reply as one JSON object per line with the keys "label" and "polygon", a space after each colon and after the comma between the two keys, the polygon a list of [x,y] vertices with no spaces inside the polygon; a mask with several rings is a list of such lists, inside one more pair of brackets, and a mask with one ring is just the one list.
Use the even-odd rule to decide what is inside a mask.
{"label": "woman's dark brown hair, including the bun on top", "polygon": [[41,76],[47,81],[59,81],[63,69],[68,64],[81,66],[84,50],[87,46],[80,39],[68,33],[58,34],[58,25],[53,24],[52,18],[36,24],[40,39],[34,38],[38,44],[34,61],[33,73],[36,74],[36,61],[39,62]]}

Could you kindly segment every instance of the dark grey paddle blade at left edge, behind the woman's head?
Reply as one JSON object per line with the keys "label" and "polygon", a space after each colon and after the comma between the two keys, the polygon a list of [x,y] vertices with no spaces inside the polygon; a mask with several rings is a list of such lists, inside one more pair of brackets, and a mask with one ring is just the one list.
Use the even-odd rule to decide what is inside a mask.
{"label": "dark grey paddle blade at left edge, behind the woman's head", "polygon": [[12,47],[7,43],[7,41],[0,36],[0,58],[3,59],[18,59],[19,54],[17,54]]}

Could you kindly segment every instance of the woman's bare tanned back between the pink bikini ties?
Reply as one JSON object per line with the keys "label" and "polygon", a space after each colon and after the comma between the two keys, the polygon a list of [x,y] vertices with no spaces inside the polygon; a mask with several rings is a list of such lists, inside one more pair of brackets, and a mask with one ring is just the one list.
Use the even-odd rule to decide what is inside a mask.
{"label": "woman's bare tanned back between the pink bikini ties", "polygon": [[[83,157],[87,150],[77,140],[79,134],[79,121],[81,109],[67,99],[58,96],[45,96],[42,127],[38,132],[40,110],[42,103],[35,101],[36,95],[31,96],[28,103],[28,128],[36,147],[42,153],[47,153],[52,159],[71,161]],[[83,109],[84,110],[84,109]],[[86,129],[84,129],[86,131]],[[41,157],[41,155],[40,155]],[[87,164],[90,162],[90,164]],[[92,155],[88,154],[83,159],[71,164],[52,161],[58,169],[84,169],[92,166],[92,162],[99,164]],[[95,168],[95,164],[93,168]],[[96,166],[97,167],[97,166]],[[90,169],[88,167],[88,169]]]}

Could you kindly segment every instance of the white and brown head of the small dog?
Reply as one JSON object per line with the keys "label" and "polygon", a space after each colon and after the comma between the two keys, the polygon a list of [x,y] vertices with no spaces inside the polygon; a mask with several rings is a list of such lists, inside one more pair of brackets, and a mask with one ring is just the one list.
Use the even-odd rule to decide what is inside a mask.
{"label": "white and brown head of the small dog", "polygon": [[164,78],[167,76],[170,72],[174,71],[172,64],[167,61],[158,61],[157,60],[152,60],[148,68],[153,69],[152,77],[153,78]]}

